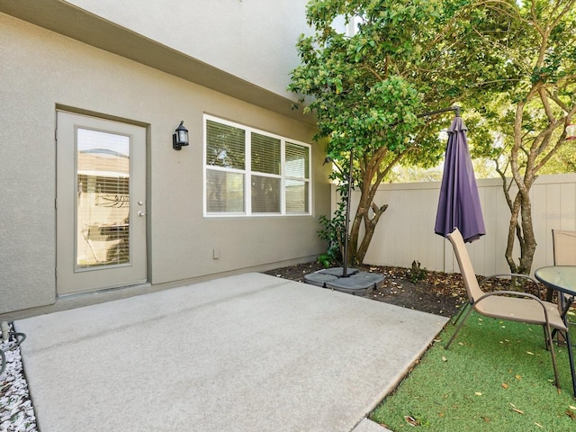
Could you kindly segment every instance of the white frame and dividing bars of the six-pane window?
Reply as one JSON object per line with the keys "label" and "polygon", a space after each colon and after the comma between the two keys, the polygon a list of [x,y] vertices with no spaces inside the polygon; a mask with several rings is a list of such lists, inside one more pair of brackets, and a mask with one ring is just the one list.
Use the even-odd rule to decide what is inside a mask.
{"label": "white frame and dividing bars of the six-pane window", "polygon": [[[227,125],[233,128],[238,128],[245,131],[245,158],[244,158],[244,169],[234,169],[234,168],[222,168],[220,166],[211,166],[206,164],[206,153],[208,146],[208,134],[207,134],[207,121],[218,122],[223,125]],[[266,132],[265,130],[259,130],[249,126],[245,126],[234,121],[228,121],[220,119],[220,117],[215,117],[210,114],[204,114],[202,119],[203,128],[203,147],[202,147],[202,209],[204,217],[208,218],[229,218],[229,217],[274,217],[274,216],[311,216],[312,214],[312,151],[311,144],[299,141],[297,139],[290,139],[283,137],[281,135],[276,135],[274,133]],[[280,140],[280,159],[281,159],[281,173],[280,175],[271,175],[266,173],[260,173],[258,171],[252,171],[252,151],[251,151],[251,136],[252,132],[260,135],[265,135],[270,138]],[[293,177],[286,174],[286,142],[302,146],[308,149],[308,177],[300,178]],[[229,211],[229,212],[209,212],[207,209],[207,193],[206,193],[206,182],[207,182],[207,171],[224,171],[228,173],[238,173],[244,175],[244,209],[245,211]],[[252,212],[252,193],[251,193],[251,182],[250,179],[252,175],[269,176],[273,178],[280,178],[280,211],[273,213],[264,212]],[[289,213],[286,212],[286,180],[297,180],[303,181],[308,187],[308,211],[302,211],[300,213]]]}

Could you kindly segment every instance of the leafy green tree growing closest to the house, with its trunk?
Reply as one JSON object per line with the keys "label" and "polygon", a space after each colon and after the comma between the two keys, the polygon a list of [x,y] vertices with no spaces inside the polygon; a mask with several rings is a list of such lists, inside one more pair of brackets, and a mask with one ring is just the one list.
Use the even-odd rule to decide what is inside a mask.
{"label": "leafy green tree growing closest to the house, with its trunk", "polygon": [[[329,139],[328,157],[340,172],[347,172],[351,154],[355,159],[353,178],[361,197],[350,230],[353,260],[364,259],[387,208],[374,196],[392,167],[433,166],[443,154],[444,143],[431,132],[439,130],[437,117],[419,118],[419,113],[455,102],[455,94],[434,87],[444,74],[446,58],[435,46],[446,14],[451,12],[438,0],[313,0],[308,5],[308,22],[316,31],[298,41],[302,65],[293,70],[289,88],[313,96],[305,109],[316,113],[317,138]],[[359,17],[356,34],[335,30],[338,17],[347,23]]]}

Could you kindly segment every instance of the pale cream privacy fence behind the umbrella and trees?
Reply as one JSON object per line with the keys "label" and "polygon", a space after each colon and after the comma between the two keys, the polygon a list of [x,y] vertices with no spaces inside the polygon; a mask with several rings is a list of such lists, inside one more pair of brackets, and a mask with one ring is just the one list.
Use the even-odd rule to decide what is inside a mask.
{"label": "pale cream privacy fence behind the umbrella and trees", "polygon": [[[486,235],[467,243],[478,275],[509,273],[506,252],[509,207],[500,179],[478,180]],[[410,267],[412,261],[428,270],[458,272],[452,246],[434,233],[440,182],[383,184],[374,202],[388,204],[374,232],[365,257],[366,264]],[[516,194],[512,188],[511,193]],[[576,230],[576,174],[541,175],[530,191],[536,233],[536,254],[532,271],[553,265],[552,229]],[[338,202],[332,187],[332,211]],[[352,194],[351,218],[359,193]],[[519,247],[514,250],[519,255]],[[517,257],[518,258],[518,257]],[[518,260],[517,260],[518,261]]]}

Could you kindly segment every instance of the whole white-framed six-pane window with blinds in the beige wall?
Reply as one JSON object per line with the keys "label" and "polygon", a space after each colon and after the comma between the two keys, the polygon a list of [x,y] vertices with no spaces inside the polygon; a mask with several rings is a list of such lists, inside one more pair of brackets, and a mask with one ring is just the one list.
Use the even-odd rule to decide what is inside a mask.
{"label": "whole white-framed six-pane window with blinds in the beige wall", "polygon": [[208,115],[204,137],[204,214],[310,214],[310,145]]}

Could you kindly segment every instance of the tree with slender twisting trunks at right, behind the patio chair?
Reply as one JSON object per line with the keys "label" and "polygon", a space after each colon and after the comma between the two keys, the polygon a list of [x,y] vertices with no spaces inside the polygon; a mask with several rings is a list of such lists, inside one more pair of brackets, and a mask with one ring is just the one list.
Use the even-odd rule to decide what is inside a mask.
{"label": "tree with slender twisting trunks at right, behind the patio chair", "polygon": [[[500,52],[497,73],[478,83],[474,107],[497,144],[476,148],[492,157],[509,205],[510,270],[529,273],[536,251],[530,189],[556,155],[569,148],[566,126],[576,112],[576,11],[574,0],[479,2],[473,40]],[[504,67],[508,67],[506,72]],[[562,159],[560,159],[562,160]],[[519,257],[515,257],[515,243]]]}

